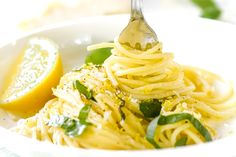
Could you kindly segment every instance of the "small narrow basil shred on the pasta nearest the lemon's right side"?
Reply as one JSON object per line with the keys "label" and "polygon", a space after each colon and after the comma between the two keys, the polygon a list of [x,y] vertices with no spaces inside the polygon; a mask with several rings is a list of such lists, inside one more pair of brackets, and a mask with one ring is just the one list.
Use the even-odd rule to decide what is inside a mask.
{"label": "small narrow basil shred on the pasta nearest the lemon's right side", "polygon": [[94,99],[92,91],[81,84],[79,80],[73,82],[73,87],[74,89],[77,89],[81,94],[83,94],[87,99]]}

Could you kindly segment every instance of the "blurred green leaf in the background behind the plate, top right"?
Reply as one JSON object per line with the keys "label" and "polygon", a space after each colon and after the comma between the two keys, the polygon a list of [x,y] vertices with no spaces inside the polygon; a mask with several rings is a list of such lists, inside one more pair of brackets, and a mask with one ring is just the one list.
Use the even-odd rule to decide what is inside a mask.
{"label": "blurred green leaf in the background behind the plate, top right", "polygon": [[192,2],[202,9],[202,17],[217,19],[221,15],[221,10],[214,0],[192,0]]}

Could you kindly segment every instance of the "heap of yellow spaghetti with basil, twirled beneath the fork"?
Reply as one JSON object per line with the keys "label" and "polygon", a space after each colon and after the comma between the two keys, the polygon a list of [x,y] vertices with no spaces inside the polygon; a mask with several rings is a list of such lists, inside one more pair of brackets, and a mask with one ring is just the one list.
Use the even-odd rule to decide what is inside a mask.
{"label": "heap of yellow spaghetti with basil, twirled beneath the fork", "polygon": [[159,149],[217,138],[215,124],[236,113],[233,88],[216,74],[179,65],[158,43],[147,51],[111,49],[103,64],[65,74],[35,116],[20,120],[19,134],[58,145],[113,150]]}

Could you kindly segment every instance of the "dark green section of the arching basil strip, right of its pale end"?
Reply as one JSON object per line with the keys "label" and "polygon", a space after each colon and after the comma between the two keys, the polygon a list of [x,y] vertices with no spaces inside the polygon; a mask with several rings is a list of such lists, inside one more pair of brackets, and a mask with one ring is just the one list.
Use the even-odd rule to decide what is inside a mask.
{"label": "dark green section of the arching basil strip, right of its pale end", "polygon": [[206,141],[212,141],[211,134],[201,124],[201,122],[189,113],[177,113],[168,116],[160,116],[158,120],[159,125],[173,124],[181,120],[189,120],[198,132],[205,138]]}

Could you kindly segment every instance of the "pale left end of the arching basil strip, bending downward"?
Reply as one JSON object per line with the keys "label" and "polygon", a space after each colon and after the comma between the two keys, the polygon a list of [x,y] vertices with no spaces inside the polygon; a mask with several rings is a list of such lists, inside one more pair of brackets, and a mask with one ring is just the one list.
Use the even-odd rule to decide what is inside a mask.
{"label": "pale left end of the arching basil strip, bending downward", "polygon": [[151,143],[156,149],[161,148],[154,140],[158,120],[159,120],[159,117],[156,117],[149,123],[147,127],[147,134],[146,134],[147,141]]}

